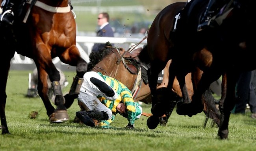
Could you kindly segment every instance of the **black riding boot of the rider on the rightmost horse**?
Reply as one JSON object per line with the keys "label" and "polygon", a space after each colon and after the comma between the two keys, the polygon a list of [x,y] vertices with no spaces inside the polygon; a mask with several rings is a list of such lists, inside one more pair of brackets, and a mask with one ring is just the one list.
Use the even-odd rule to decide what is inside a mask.
{"label": "black riding boot of the rider on the rightmost horse", "polygon": [[210,0],[207,7],[206,11],[204,12],[204,16],[201,16],[197,31],[201,31],[208,27],[211,22],[211,18],[216,15],[217,9],[219,7],[219,3],[222,4],[221,1],[224,0]]}

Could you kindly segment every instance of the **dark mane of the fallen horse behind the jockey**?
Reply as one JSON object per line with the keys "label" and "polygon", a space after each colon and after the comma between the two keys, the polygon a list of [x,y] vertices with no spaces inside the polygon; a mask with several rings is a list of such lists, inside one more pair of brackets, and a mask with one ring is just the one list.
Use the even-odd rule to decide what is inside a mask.
{"label": "dark mane of the fallen horse behind the jockey", "polygon": [[112,48],[103,48],[100,49],[97,53],[91,52],[89,55],[90,62],[88,63],[88,71],[91,71],[93,67],[98,64],[106,55],[111,52]]}

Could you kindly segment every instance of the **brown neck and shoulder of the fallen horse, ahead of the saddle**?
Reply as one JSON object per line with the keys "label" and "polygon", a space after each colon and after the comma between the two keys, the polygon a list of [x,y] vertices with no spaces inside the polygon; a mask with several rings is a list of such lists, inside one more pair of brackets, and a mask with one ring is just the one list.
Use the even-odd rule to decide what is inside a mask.
{"label": "brown neck and shoulder of the fallen horse, ahead of the saddle", "polygon": [[98,53],[90,53],[88,71],[100,72],[122,82],[132,90],[137,74],[133,65],[133,54],[122,48],[105,46]]}

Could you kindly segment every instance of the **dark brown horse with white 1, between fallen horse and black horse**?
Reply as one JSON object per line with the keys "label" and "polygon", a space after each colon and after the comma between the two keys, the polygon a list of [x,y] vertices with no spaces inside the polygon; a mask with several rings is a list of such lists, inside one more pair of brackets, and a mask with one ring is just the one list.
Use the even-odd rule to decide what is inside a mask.
{"label": "dark brown horse with white 1, between fallen horse and black horse", "polygon": [[[158,79],[158,73],[165,67],[167,62],[170,59],[172,59],[172,30],[176,28],[177,22],[179,20],[179,13],[182,11],[185,5],[186,2],[176,2],[168,5],[163,10],[161,10],[160,13],[158,13],[148,31],[147,45],[145,45],[145,47],[139,54],[139,60],[141,60],[141,62],[151,64],[148,73],[148,83],[152,94],[151,112],[153,113],[153,116],[150,117],[147,121],[147,126],[150,129],[154,129],[157,126],[155,123],[158,122],[158,118],[154,116],[162,116],[162,108],[163,106],[165,106],[165,102],[171,101],[169,100],[168,96],[165,96],[165,98],[163,98],[163,102],[158,101],[159,94],[156,90],[156,84]],[[187,49],[191,48],[188,47]],[[204,53],[204,55],[205,54],[206,53]],[[183,61],[184,67],[180,69],[179,67],[173,65],[175,64],[175,62],[173,63],[172,61],[172,63],[170,64],[169,83],[167,85],[167,92],[171,91],[174,84],[174,79],[177,78],[180,90],[182,92],[181,96],[183,97],[184,102],[189,103],[191,102],[191,97],[193,95],[193,93],[191,94],[191,92],[193,92],[194,89],[196,89],[197,83],[201,78],[202,71],[199,68],[193,67],[193,64],[187,63],[186,59],[189,60],[189,58],[182,58],[181,61]],[[184,62],[186,62],[186,64]],[[185,70],[185,72],[178,72],[179,70]],[[193,72],[193,74],[191,75],[193,81],[193,90],[189,92],[187,89],[188,81],[185,80],[184,77],[191,72]],[[210,115],[210,118],[219,120],[220,115],[217,111],[217,108],[213,106],[213,102],[215,99],[213,98],[210,89],[205,91],[203,100],[204,106],[202,109],[204,109],[204,107],[207,107],[208,109],[204,109],[204,111],[211,110],[214,113],[216,113],[216,115]]]}

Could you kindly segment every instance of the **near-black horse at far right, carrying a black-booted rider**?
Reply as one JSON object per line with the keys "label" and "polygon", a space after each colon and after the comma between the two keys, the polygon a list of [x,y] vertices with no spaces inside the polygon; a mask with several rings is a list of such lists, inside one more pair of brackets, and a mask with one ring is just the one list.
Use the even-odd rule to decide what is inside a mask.
{"label": "near-black horse at far right, carrying a black-booted rider", "polygon": [[[181,20],[174,32],[174,54],[176,67],[184,67],[188,62],[199,67],[204,73],[192,96],[192,102],[180,104],[177,113],[193,116],[202,111],[202,94],[211,82],[223,76],[222,96],[219,109],[221,122],[217,135],[221,139],[228,138],[230,113],[235,106],[236,82],[241,72],[256,69],[254,63],[253,35],[256,34],[253,0],[230,0],[221,8],[216,19],[209,27],[197,32],[200,16],[203,15],[208,1],[193,0],[189,2],[181,14]],[[237,30],[239,29],[239,30]],[[192,49],[191,49],[192,48]],[[211,60],[207,65],[198,64],[206,59],[198,57],[203,48],[208,49]],[[181,60],[182,59],[182,60]],[[186,72],[180,70],[180,73]]]}

